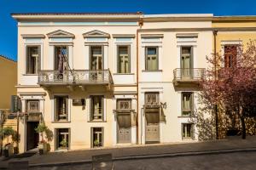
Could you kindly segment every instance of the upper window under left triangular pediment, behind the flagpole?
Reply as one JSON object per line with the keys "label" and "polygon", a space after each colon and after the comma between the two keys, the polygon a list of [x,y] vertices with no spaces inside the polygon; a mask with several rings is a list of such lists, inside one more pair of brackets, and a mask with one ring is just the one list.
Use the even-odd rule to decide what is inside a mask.
{"label": "upper window under left triangular pediment, behind the flagpole", "polygon": [[55,71],[68,70],[68,50],[67,46],[55,46]]}

